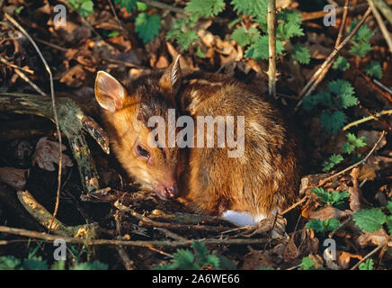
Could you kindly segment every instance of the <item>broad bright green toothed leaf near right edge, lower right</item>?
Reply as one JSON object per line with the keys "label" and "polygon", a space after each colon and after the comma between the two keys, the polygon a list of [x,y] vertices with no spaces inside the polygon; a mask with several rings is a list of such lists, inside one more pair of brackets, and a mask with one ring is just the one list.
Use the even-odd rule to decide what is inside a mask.
{"label": "broad bright green toothed leaf near right edge, lower right", "polygon": [[365,232],[373,232],[382,228],[387,216],[377,208],[362,209],[352,215],[355,224]]}

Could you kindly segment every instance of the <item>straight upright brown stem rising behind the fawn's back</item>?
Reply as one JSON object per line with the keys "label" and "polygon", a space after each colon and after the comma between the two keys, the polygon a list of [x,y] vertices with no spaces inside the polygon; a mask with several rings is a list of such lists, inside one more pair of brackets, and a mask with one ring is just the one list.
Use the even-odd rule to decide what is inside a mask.
{"label": "straight upright brown stem rising behind the fawn's back", "polygon": [[267,33],[268,33],[268,93],[276,99],[276,3],[275,0],[268,0],[267,12]]}

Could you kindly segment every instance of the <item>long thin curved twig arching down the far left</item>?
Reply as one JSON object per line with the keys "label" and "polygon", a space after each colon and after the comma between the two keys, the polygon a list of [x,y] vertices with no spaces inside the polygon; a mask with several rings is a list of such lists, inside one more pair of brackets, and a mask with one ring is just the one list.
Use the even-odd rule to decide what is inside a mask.
{"label": "long thin curved twig arching down the far left", "polygon": [[29,33],[27,31],[25,31],[23,29],[23,27],[17,23],[12,16],[4,13],[5,18],[7,18],[7,20],[11,23],[13,23],[13,25],[15,25],[20,31],[22,31],[22,33],[24,34],[24,36],[26,36],[30,41],[32,46],[34,47],[34,49],[37,50],[38,55],[40,56],[40,59],[42,60],[48,74],[49,74],[49,80],[50,80],[50,96],[51,96],[51,100],[52,100],[52,109],[53,109],[53,116],[54,116],[54,120],[56,123],[56,130],[58,132],[58,191],[57,191],[57,199],[56,199],[56,205],[55,205],[55,209],[53,211],[53,218],[52,218],[52,222],[54,221],[54,219],[56,218],[56,215],[58,213],[58,203],[59,203],[59,197],[60,197],[60,188],[61,188],[61,168],[62,168],[62,141],[61,141],[61,131],[60,131],[60,126],[58,125],[58,112],[57,112],[57,108],[56,108],[56,99],[55,99],[55,89],[54,89],[54,84],[53,84],[53,76],[52,76],[52,72],[50,70],[50,67],[48,65],[48,63],[46,62],[45,58],[42,56],[42,53],[40,52],[40,49],[38,48],[37,44],[34,42],[34,40],[32,40],[31,36],[29,35]]}

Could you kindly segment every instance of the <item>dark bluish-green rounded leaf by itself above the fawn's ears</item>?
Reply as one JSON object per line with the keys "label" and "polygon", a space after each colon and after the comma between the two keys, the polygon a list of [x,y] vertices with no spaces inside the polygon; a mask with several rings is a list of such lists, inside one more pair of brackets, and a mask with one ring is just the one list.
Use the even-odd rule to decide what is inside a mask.
{"label": "dark bluish-green rounded leaf by itself above the fawn's ears", "polygon": [[157,14],[148,15],[143,12],[138,14],[135,21],[135,31],[138,32],[138,37],[147,43],[154,40],[161,29],[161,17]]}

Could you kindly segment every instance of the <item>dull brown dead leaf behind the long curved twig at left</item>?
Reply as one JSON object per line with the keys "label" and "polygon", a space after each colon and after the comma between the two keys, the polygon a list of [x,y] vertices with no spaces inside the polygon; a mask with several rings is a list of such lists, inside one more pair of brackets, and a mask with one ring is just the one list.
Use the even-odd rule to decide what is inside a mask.
{"label": "dull brown dead leaf behind the long curved twig at left", "polygon": [[[67,147],[62,145],[61,150],[64,151]],[[35,153],[32,157],[32,165],[38,164],[41,169],[47,171],[55,171],[54,164],[58,164],[58,142],[49,140],[48,137],[39,139],[35,148]],[[73,166],[71,158],[66,154],[62,157],[62,167]]]}

